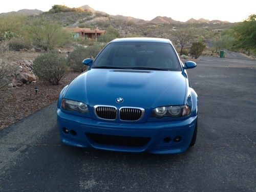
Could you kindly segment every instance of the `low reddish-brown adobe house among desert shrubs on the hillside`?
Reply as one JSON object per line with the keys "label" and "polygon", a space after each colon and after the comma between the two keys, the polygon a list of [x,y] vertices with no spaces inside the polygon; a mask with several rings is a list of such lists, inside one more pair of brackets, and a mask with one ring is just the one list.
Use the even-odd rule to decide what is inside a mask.
{"label": "low reddish-brown adobe house among desert shrubs on the hillside", "polygon": [[95,30],[91,30],[90,28],[67,28],[68,30],[71,30],[73,32],[74,38],[97,38],[100,35],[106,33],[106,30],[99,30],[96,28]]}

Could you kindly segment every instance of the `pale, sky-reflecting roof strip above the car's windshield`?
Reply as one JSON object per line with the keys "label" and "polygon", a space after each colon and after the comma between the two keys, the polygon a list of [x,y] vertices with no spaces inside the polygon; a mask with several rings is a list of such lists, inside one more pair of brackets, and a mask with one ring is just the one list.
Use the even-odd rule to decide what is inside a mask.
{"label": "pale, sky-reflecting roof strip above the car's windshield", "polygon": [[152,38],[152,37],[131,37],[131,38],[117,38],[111,42],[161,42],[165,44],[172,44],[169,39]]}

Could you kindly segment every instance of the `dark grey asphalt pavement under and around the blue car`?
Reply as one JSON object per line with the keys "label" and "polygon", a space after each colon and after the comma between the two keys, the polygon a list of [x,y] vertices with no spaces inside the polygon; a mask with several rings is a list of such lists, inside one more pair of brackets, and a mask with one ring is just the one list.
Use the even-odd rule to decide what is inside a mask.
{"label": "dark grey asphalt pavement under and around the blue car", "polygon": [[0,132],[0,191],[256,191],[256,61],[200,57],[188,74],[200,103],[186,153],[62,145],[53,103]]}

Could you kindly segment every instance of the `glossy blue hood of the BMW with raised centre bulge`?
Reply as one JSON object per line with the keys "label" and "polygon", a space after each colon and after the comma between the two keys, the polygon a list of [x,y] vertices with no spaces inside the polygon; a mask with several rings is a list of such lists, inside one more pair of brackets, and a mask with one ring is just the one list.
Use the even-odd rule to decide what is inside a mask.
{"label": "glossy blue hood of the BMW with raised centre bulge", "polygon": [[[183,104],[186,85],[181,71],[91,69],[72,81],[65,98],[90,106],[102,104],[150,109]],[[116,102],[118,97],[123,98],[122,103]]]}

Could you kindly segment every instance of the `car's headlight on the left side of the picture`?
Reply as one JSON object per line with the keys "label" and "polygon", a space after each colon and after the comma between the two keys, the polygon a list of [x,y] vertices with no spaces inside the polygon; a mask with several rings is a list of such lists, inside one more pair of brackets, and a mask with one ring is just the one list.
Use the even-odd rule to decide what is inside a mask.
{"label": "car's headlight on the left side of the picture", "polygon": [[85,103],[70,99],[62,99],[61,108],[68,111],[78,111],[79,113],[89,113]]}

